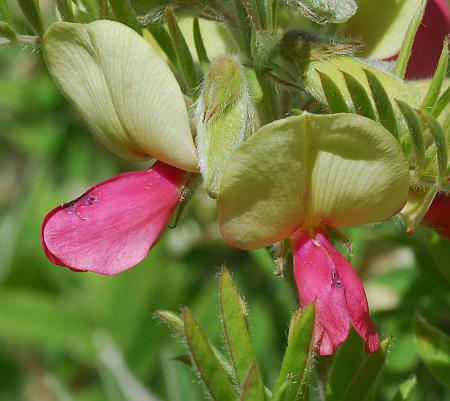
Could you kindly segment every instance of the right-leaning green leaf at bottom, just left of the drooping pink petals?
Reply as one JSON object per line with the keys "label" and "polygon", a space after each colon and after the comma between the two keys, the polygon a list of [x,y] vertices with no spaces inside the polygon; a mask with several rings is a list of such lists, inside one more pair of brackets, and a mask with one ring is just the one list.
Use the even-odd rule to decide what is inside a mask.
{"label": "right-leaning green leaf at bottom, just left of the drooping pink petals", "polygon": [[292,317],[288,345],[275,383],[273,399],[295,401],[306,384],[312,366],[314,324],[314,303],[295,312]]}

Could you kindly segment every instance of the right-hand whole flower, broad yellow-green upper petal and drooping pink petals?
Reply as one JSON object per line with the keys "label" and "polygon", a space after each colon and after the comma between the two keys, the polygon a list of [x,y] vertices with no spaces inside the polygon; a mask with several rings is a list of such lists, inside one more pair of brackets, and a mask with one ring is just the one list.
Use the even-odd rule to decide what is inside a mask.
{"label": "right-hand whole flower, broad yellow-green upper petal and drooping pink petals", "polygon": [[345,340],[350,320],[375,352],[379,340],[362,284],[325,233],[390,218],[408,188],[408,162],[380,124],[305,113],[266,125],[234,152],[219,187],[219,225],[241,249],[291,242],[301,305],[317,302],[320,354]]}

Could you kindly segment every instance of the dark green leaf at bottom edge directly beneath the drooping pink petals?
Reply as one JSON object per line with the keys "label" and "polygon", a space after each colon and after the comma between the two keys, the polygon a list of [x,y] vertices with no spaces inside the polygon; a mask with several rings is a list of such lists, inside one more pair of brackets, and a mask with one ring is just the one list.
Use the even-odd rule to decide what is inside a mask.
{"label": "dark green leaf at bottom edge directly beneath the drooping pink petals", "polygon": [[327,387],[326,401],[339,401],[361,366],[364,344],[355,330],[341,345],[334,357]]}

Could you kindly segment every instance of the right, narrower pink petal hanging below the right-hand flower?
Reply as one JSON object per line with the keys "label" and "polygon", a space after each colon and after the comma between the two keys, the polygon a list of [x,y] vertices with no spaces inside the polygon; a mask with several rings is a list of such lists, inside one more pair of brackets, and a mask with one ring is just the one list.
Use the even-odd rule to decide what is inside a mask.
{"label": "right, narrower pink petal hanging below the right-hand flower", "polygon": [[345,291],[347,310],[353,323],[353,327],[366,343],[367,352],[377,352],[380,348],[380,341],[375,325],[369,316],[369,306],[367,304],[366,293],[358,274],[350,263],[322,234],[317,234],[323,246],[327,249],[331,259],[336,266],[339,280]]}

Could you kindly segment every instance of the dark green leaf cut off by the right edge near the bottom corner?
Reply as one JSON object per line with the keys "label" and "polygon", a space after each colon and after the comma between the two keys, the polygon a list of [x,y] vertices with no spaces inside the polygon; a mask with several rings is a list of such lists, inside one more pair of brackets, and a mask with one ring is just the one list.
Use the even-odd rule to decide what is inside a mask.
{"label": "dark green leaf cut off by the right edge near the bottom corner", "polygon": [[433,377],[450,388],[450,337],[421,316],[413,320],[416,350]]}

